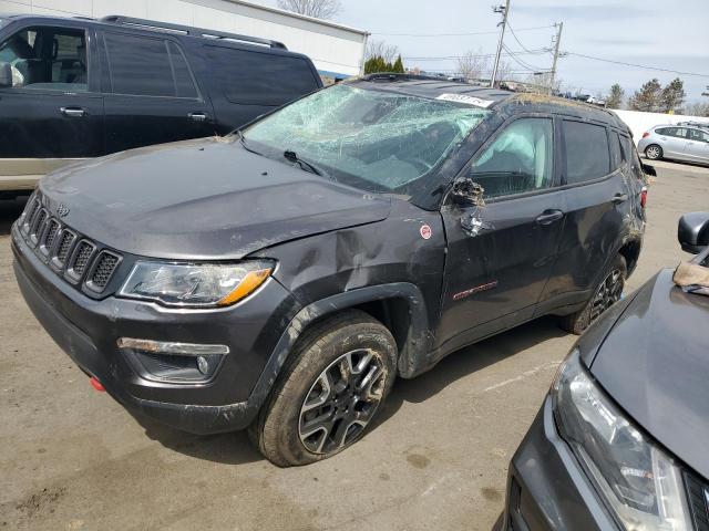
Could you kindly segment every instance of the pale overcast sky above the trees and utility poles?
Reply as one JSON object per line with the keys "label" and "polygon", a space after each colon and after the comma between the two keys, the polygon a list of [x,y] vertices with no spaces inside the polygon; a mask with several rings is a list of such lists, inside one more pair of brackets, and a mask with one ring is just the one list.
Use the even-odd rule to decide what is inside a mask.
{"label": "pale overcast sky above the trees and utility poles", "polygon": [[[275,6],[275,0],[257,0]],[[422,70],[454,70],[454,60],[424,61],[408,58],[460,55],[466,50],[493,53],[495,34],[465,37],[404,37],[397,33],[474,33],[493,31],[500,15],[493,3],[504,0],[341,0],[343,9],[337,22],[370,31],[372,39],[395,44],[405,66]],[[700,101],[709,84],[709,1],[707,0],[512,0],[510,23],[522,44],[531,51],[549,46],[554,22],[564,22],[562,50],[615,61],[637,63],[705,77],[654,72],[568,55],[559,61],[558,75],[567,87],[595,94],[620,83],[631,94],[651,77],[667,83],[679,76],[685,81],[689,101]],[[548,25],[541,30],[525,30]],[[522,51],[507,33],[505,43]],[[531,66],[549,69],[552,56],[522,54]],[[514,70],[523,70],[507,59]],[[703,98],[709,102],[709,98]]]}

